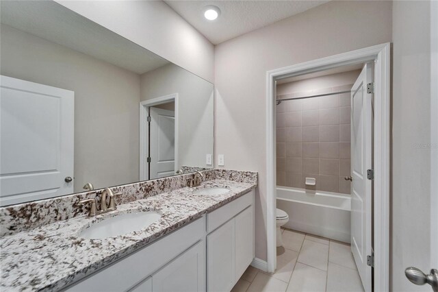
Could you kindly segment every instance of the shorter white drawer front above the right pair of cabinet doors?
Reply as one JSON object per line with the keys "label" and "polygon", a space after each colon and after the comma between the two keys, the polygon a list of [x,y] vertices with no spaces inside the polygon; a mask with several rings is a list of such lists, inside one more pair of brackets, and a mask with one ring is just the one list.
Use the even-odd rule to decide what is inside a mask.
{"label": "shorter white drawer front above the right pair of cabinet doors", "polygon": [[253,204],[254,191],[207,214],[207,233],[215,230],[229,219],[235,217],[242,210]]}

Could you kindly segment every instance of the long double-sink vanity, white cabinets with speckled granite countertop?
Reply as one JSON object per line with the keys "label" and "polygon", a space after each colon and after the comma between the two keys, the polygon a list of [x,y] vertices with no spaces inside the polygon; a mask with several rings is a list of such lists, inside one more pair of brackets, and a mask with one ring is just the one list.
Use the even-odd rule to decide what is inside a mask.
{"label": "long double-sink vanity, white cabinets with speckled granite countertop", "polygon": [[[84,209],[83,215],[3,236],[2,290],[230,291],[254,258],[257,173],[246,180],[244,172],[203,173],[201,186],[165,190],[95,217]],[[143,184],[175,180],[169,185],[176,187],[188,176]],[[17,210],[1,208],[2,217]],[[160,217],[128,234],[81,238],[93,224],[133,212]],[[3,228],[10,228],[4,220]]]}

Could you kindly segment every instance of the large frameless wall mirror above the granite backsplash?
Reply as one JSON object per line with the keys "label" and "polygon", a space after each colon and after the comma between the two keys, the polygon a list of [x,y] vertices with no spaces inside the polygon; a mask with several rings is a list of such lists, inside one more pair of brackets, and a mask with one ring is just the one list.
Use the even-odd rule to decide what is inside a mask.
{"label": "large frameless wall mirror above the granite backsplash", "polygon": [[[61,138],[55,134],[50,136],[55,141],[56,138],[62,139],[71,134],[71,154],[68,158],[73,160],[74,149],[73,166],[70,173],[64,174],[60,171],[58,175],[62,186],[68,185],[70,190],[54,191],[59,186],[45,184],[41,179],[38,180],[40,193],[29,196],[32,192],[30,182],[21,184],[10,180],[16,173],[35,171],[32,167],[37,159],[42,163],[42,167],[36,169],[40,171],[39,178],[42,178],[42,170],[57,169],[51,159],[54,159],[58,148],[50,152],[53,157],[44,153],[45,156],[34,155],[38,153],[38,149],[49,151],[53,146],[41,144],[38,138],[42,134],[48,135],[52,128],[68,125],[64,121],[55,121],[55,112],[46,114],[50,106],[45,105],[44,108],[44,104],[55,102],[55,99],[49,98],[50,94],[42,95],[44,98],[29,98],[29,101],[23,101],[23,106],[10,108],[10,115],[4,116],[11,119],[21,119],[24,116],[23,121],[29,127],[38,127],[34,129],[34,136],[38,138],[27,138],[31,137],[27,133],[13,136],[17,139],[14,141],[3,136],[2,130],[0,140],[2,143],[8,141],[10,150],[16,151],[14,155],[18,158],[8,154],[6,156],[10,160],[3,159],[2,156],[0,161],[1,182],[3,183],[3,178],[6,182],[7,176],[8,182],[11,182],[4,183],[1,188],[1,204],[10,205],[89,191],[92,187],[97,190],[148,180],[149,164],[145,164],[144,160],[149,157],[149,144],[146,144],[147,149],[139,148],[143,145],[140,141],[144,138],[146,129],[142,127],[147,125],[144,121],[149,112],[144,114],[144,107],[140,107],[139,113],[139,104],[175,93],[178,94],[173,110],[175,118],[180,122],[179,127],[175,127],[174,137],[175,154],[178,155],[172,159],[177,167],[163,170],[160,175],[175,175],[175,170],[183,167],[188,167],[188,171],[212,167],[211,162],[206,163],[205,157],[213,153],[213,84],[75,14],[56,1],[0,1],[0,6],[0,75],[71,90],[75,98],[74,104],[68,107],[72,110],[72,115],[74,114],[74,127],[72,117],[72,128],[57,132]],[[39,104],[37,101],[42,102]],[[166,102],[169,100],[148,106],[157,107]],[[24,106],[31,106],[29,112],[23,110]],[[39,119],[51,121],[41,124]],[[21,124],[12,126],[10,133],[18,133],[18,125]],[[165,137],[162,134],[161,142],[166,142]],[[161,142],[157,145],[159,151],[164,149]],[[170,146],[170,141],[167,142]],[[20,143],[24,150],[21,146],[18,147]],[[163,160],[170,160],[164,154],[166,153],[160,153]],[[64,154],[57,155],[65,158]],[[31,165],[24,165],[25,162],[31,162]],[[142,165],[146,165],[147,172]],[[3,171],[6,171],[5,175]],[[73,181],[64,182],[65,179],[69,180],[68,177],[72,180],[74,178],[74,188]],[[4,186],[14,188],[11,191],[22,194],[23,199],[5,202],[5,194],[12,193],[5,193]]]}

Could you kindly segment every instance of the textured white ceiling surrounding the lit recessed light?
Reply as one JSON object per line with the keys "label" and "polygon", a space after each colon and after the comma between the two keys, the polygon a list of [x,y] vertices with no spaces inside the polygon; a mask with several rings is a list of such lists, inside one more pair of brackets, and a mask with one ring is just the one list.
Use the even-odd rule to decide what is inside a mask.
{"label": "textured white ceiling surrounding the lit recessed light", "polygon": [[[164,1],[214,45],[328,2],[326,0]],[[220,8],[221,14],[216,21],[207,21],[204,18],[203,10],[207,5],[216,5]]]}

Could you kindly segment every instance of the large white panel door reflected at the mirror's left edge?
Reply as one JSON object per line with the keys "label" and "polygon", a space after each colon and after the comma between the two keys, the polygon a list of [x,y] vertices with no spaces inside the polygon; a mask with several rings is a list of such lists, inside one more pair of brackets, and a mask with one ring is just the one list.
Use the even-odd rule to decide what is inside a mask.
{"label": "large white panel door reflected at the mirror's left edge", "polygon": [[5,76],[0,87],[1,206],[73,193],[73,91]]}

